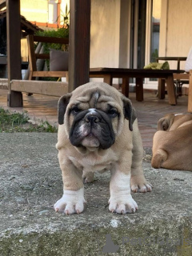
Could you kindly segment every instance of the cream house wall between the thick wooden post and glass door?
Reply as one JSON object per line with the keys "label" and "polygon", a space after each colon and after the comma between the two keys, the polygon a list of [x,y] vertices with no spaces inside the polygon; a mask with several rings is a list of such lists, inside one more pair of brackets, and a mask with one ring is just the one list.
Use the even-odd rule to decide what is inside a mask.
{"label": "cream house wall between the thick wooden post and glass door", "polygon": [[92,0],[90,18],[90,67],[118,67],[119,0]]}

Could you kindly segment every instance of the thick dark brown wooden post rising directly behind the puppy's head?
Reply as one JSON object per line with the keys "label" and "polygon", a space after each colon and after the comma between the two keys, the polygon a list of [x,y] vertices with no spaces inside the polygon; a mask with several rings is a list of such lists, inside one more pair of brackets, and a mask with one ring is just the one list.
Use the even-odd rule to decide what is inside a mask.
{"label": "thick dark brown wooden post rising directly behind the puppy's head", "polygon": [[69,91],[90,81],[90,0],[70,0]]}

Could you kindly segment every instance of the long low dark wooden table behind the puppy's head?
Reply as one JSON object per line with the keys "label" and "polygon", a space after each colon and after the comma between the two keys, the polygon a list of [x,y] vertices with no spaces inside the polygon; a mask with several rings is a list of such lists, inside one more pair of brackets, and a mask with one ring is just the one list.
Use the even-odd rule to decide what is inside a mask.
{"label": "long low dark wooden table behind the puppy's head", "polygon": [[167,93],[170,105],[177,104],[177,98],[174,88],[173,74],[183,72],[182,70],[144,70],[144,69],[122,69],[122,68],[90,68],[90,78],[103,78],[103,81],[112,86],[113,78],[122,78],[122,94],[129,97],[129,78],[136,78],[136,100],[143,101],[143,78],[161,78],[158,86],[158,97],[165,95],[166,81]]}

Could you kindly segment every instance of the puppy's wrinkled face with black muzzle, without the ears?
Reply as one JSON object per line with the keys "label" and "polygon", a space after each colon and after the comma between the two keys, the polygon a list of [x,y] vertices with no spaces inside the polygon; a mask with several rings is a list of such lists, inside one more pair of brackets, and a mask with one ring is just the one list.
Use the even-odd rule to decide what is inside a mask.
{"label": "puppy's wrinkled face with black muzzle, without the ears", "polygon": [[98,91],[76,98],[68,107],[69,138],[74,146],[108,149],[114,144],[121,111],[113,98]]}

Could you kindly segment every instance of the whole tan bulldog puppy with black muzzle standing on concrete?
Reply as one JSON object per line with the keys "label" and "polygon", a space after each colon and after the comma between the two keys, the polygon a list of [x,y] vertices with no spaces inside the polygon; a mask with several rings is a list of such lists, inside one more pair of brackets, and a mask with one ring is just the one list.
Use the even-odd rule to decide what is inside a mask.
{"label": "whole tan bulldog puppy with black muzzle standing on concrete", "polygon": [[82,213],[84,182],[110,170],[109,210],[134,213],[130,194],[151,191],[142,171],[142,138],[130,99],[103,82],[88,82],[58,102],[58,159],[63,195],[54,210]]}

